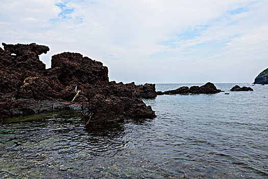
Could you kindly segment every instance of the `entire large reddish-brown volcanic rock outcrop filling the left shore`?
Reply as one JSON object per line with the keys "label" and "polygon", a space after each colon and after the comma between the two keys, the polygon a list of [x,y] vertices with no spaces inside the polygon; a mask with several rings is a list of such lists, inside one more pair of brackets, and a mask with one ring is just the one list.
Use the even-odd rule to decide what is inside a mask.
{"label": "entire large reddish-brown volcanic rock outcrop filling the left shore", "polygon": [[51,68],[45,69],[39,55],[48,47],[2,44],[1,118],[65,109],[83,110],[87,125],[156,117],[140,99],[155,98],[155,84],[110,82],[106,66],[79,53],[54,55]]}

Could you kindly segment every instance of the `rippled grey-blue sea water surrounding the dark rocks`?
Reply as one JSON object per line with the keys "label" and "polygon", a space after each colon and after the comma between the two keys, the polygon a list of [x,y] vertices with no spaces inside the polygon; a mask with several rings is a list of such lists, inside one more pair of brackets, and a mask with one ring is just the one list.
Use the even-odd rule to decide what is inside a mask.
{"label": "rippled grey-blue sea water surrounding the dark rocks", "polygon": [[[158,91],[202,84],[157,84]],[[153,120],[0,124],[0,178],[268,178],[268,85],[144,100]]]}

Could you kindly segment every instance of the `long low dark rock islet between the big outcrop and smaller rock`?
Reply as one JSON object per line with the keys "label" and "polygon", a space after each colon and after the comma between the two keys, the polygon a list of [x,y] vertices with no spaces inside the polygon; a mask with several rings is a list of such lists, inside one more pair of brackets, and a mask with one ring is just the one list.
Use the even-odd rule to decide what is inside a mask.
{"label": "long low dark rock islet between the big outcrop and smaller rock", "polygon": [[166,92],[157,92],[157,95],[176,95],[176,94],[215,94],[220,93],[221,89],[217,89],[216,86],[208,82],[202,86],[191,86],[190,88],[187,86],[182,86],[174,90],[166,91]]}

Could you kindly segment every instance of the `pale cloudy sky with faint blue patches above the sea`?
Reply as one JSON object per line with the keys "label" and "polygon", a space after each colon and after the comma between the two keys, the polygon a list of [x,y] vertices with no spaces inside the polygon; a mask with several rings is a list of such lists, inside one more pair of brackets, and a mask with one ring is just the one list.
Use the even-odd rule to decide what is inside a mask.
{"label": "pale cloudy sky with faint blue patches above the sea", "polygon": [[81,53],[116,82],[253,82],[268,68],[267,9],[267,0],[0,0],[0,39],[50,47],[46,68],[55,54]]}

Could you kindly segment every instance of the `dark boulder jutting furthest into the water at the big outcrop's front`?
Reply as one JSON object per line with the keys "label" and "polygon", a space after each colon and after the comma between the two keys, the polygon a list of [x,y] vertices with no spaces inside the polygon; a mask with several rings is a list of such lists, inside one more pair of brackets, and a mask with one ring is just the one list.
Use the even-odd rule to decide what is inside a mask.
{"label": "dark boulder jutting furthest into the water at the big outcrop's front", "polygon": [[95,95],[89,103],[89,111],[83,121],[86,125],[124,121],[124,118],[153,119],[156,117],[151,106],[139,98]]}

